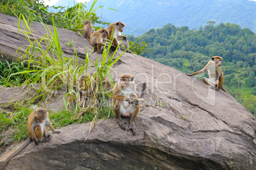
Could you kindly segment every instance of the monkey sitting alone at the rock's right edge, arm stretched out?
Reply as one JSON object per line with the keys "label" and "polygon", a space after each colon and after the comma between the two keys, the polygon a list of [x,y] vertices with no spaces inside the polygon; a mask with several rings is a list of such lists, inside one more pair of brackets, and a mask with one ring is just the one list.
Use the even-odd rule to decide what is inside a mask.
{"label": "monkey sitting alone at the rock's right edge, arm stretched out", "polygon": [[204,82],[210,85],[212,89],[220,90],[220,88],[222,88],[222,90],[227,92],[227,90],[225,90],[222,86],[224,76],[220,66],[222,66],[222,57],[213,56],[203,69],[192,74],[186,74],[188,76],[194,76],[196,74],[203,74],[204,72],[208,71],[209,78],[203,77]]}

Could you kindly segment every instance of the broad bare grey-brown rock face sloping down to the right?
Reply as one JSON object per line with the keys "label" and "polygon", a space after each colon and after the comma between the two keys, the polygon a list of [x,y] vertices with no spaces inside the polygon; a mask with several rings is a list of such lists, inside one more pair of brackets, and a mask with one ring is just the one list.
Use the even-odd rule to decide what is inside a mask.
{"label": "broad bare grey-brown rock face sloping down to the right", "polygon": [[229,94],[134,54],[115,64],[115,80],[121,72],[135,77],[138,95],[147,83],[136,136],[115,120],[97,121],[90,133],[90,124],[69,125],[49,143],[31,143],[6,169],[255,169],[256,120]]}

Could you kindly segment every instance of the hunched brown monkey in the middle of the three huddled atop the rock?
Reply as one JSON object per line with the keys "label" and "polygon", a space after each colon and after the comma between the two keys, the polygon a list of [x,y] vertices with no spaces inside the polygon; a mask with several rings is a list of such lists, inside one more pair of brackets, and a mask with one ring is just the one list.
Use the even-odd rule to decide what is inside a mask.
{"label": "hunched brown monkey in the middle of the three huddled atop the rock", "polygon": [[[107,29],[99,29],[98,31],[95,31],[90,36],[90,45],[94,47],[94,52],[103,53],[103,48],[105,46],[105,43],[103,41],[106,41],[105,39],[108,37],[108,30]],[[106,44],[106,47],[109,45]],[[111,49],[115,50],[115,46],[111,45]]]}

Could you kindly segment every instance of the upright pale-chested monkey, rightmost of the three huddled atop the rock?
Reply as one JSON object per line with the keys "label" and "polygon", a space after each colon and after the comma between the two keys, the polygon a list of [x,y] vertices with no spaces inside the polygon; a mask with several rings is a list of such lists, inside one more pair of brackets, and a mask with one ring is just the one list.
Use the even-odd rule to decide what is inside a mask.
{"label": "upright pale-chested monkey, rightmost of the three huddled atop the rock", "polygon": [[[124,45],[125,49],[120,48],[120,46],[118,47],[118,50],[122,50],[122,51],[129,48],[127,37],[121,34],[121,32],[124,31],[124,27],[125,27],[125,24],[120,21],[110,24],[108,26],[108,32],[110,32],[110,34],[108,35],[108,39],[111,39],[111,41],[113,40],[113,43],[116,47],[119,45],[120,41],[122,40],[120,46]],[[113,31],[113,34],[112,34],[112,31]],[[126,52],[132,53],[131,50],[129,49]]]}

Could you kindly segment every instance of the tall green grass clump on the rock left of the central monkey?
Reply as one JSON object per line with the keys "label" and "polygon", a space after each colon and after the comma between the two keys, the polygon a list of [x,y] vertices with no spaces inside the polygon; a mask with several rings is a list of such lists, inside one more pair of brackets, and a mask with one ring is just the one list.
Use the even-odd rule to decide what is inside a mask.
{"label": "tall green grass clump on the rock left of the central monkey", "polygon": [[[113,110],[111,110],[113,79],[110,71],[124,52],[117,59],[113,59],[116,51],[110,55],[110,48],[104,49],[101,59],[97,59],[96,62],[89,59],[88,53],[85,56],[85,62],[79,61],[76,51],[71,58],[68,58],[62,52],[54,20],[52,22],[53,32],[50,31],[48,25],[41,22],[47,33],[37,39],[24,15],[19,17],[18,33],[24,34],[29,41],[28,46],[21,47],[25,49],[20,59],[28,66],[10,73],[6,83],[10,83],[13,77],[21,76],[25,77],[24,85],[38,83],[39,89],[36,91],[36,97],[27,101],[25,106],[14,107],[18,112],[18,118],[6,113],[0,114],[1,122],[4,123],[0,126],[1,131],[13,127],[18,128],[17,134],[14,134],[11,140],[23,140],[27,134],[25,121],[31,109],[26,111],[24,108],[31,108],[29,106],[34,103],[46,107],[48,102],[54,99],[54,94],[58,90],[64,92],[60,97],[63,97],[66,108],[63,113],[53,113],[51,116],[53,124],[58,128],[80,122],[91,122],[91,127],[93,127],[98,118],[113,118]],[[42,43],[46,44],[46,49],[41,46]],[[92,66],[96,71],[89,74],[88,71]],[[17,119],[23,122],[17,124],[15,122]]]}

